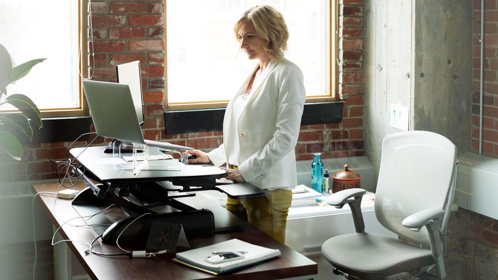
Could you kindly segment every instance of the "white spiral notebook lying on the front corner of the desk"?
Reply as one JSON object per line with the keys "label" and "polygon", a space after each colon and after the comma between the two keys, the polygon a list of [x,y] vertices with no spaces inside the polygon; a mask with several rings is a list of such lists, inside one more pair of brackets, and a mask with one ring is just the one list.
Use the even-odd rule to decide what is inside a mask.
{"label": "white spiral notebook lying on the front corner of the desk", "polygon": [[[219,264],[206,262],[204,259],[213,252],[244,251],[244,258]],[[238,239],[223,241],[210,246],[177,253],[173,261],[196,268],[214,275],[229,273],[237,269],[256,265],[257,263],[277,258],[279,249],[270,249],[247,243]]]}

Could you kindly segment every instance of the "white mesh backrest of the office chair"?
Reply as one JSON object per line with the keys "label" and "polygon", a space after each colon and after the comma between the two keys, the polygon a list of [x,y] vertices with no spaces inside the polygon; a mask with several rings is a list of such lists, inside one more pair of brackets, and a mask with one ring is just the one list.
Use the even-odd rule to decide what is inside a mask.
{"label": "white mesh backrest of the office chair", "polygon": [[425,227],[413,232],[402,221],[428,208],[446,208],[456,154],[450,140],[433,132],[387,135],[382,143],[375,197],[379,222],[411,243],[430,246]]}

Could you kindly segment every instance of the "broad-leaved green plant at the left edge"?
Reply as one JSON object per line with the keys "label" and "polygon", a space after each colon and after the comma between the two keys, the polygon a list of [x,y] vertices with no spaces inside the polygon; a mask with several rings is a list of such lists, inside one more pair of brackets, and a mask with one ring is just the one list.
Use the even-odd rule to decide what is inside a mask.
{"label": "broad-leaved green plant at the left edge", "polygon": [[31,123],[41,128],[41,114],[33,101],[23,94],[7,96],[7,86],[26,76],[31,68],[45,59],[34,59],[12,67],[12,60],[7,49],[0,44],[0,105],[10,104],[19,112],[0,115],[0,148],[13,159],[21,160],[21,142],[31,141],[33,130]]}

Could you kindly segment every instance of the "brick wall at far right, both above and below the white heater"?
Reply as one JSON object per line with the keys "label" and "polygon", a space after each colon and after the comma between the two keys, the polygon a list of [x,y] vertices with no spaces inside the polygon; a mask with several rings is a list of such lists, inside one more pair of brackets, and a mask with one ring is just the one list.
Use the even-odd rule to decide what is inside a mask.
{"label": "brick wall at far right, both above and below the white heater", "polygon": [[[472,1],[471,150],[479,151],[481,1]],[[483,152],[498,156],[498,0],[485,1]],[[498,220],[459,209],[452,213],[444,260],[449,279],[495,279],[498,275]]]}

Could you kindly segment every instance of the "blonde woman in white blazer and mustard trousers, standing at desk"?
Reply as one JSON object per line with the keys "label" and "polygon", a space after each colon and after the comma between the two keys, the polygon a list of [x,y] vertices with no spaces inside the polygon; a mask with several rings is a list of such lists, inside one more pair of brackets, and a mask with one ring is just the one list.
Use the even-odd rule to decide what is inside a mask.
{"label": "blonde woman in white blazer and mustard trousers, standing at desk", "polygon": [[265,190],[265,197],[228,198],[227,210],[284,243],[297,184],[294,147],[306,95],[303,74],[284,58],[289,34],[274,8],[252,7],[234,31],[240,48],[258,64],[227,106],[223,144],[209,153],[189,151],[196,156],[189,163],[227,163],[227,179]]}

